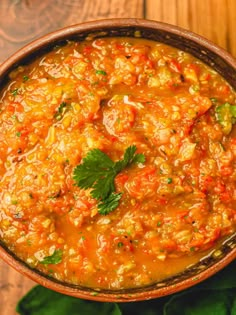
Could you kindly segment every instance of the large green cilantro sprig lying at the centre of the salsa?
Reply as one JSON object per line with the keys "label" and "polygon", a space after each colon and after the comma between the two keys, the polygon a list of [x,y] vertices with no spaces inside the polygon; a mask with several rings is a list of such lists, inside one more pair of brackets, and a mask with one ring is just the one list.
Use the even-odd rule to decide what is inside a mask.
{"label": "large green cilantro sprig lying at the centre of the salsa", "polygon": [[98,212],[108,214],[119,205],[121,193],[115,192],[115,177],[123,169],[133,163],[144,163],[145,156],[142,153],[135,154],[135,145],[129,146],[122,160],[113,162],[108,155],[99,149],[93,149],[83,158],[73,172],[75,185],[82,189],[92,188],[91,196],[97,200]]}

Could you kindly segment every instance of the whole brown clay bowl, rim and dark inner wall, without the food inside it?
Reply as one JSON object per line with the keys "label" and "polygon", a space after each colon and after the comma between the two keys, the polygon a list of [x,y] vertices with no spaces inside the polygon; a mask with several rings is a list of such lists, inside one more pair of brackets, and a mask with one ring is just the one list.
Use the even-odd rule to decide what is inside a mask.
{"label": "whole brown clay bowl, rim and dark inner wall, without the food inside it", "polygon": [[[23,47],[0,66],[0,86],[8,80],[8,74],[18,65],[29,63],[35,57],[49,51],[66,40],[82,41],[87,37],[129,36],[142,37],[174,46],[191,53],[220,73],[236,89],[236,60],[226,51],[205,38],[179,27],[141,19],[110,19],[69,26],[50,33]],[[236,233],[220,248],[196,265],[187,268],[165,281],[136,289],[93,290],[52,279],[30,268],[10,252],[0,240],[0,257],[20,273],[49,289],[78,298],[128,302],[148,300],[178,292],[212,276],[236,258]]]}

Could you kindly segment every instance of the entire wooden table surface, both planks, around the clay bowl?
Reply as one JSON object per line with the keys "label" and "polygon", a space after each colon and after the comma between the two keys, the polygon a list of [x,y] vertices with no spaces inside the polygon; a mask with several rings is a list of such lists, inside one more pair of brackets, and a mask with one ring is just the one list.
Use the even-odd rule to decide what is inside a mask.
{"label": "entire wooden table surface, both planks, around the clay bowl", "polygon": [[[114,17],[176,24],[205,36],[236,56],[235,0],[1,0],[0,62],[50,31]],[[16,302],[34,285],[0,260],[0,314],[16,314]]]}

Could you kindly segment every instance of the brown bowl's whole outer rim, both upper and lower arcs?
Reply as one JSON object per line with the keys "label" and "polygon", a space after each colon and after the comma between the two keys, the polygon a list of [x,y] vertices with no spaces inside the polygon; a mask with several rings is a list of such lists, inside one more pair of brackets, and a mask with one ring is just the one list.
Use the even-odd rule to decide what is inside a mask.
{"label": "brown bowl's whole outer rim, both upper and lower arcs", "polygon": [[[122,27],[136,27],[136,28],[144,28],[153,31],[164,31],[169,32],[174,35],[183,37],[187,40],[195,42],[197,45],[206,48],[217,56],[220,56],[231,68],[236,71],[236,59],[232,57],[226,50],[217,46],[210,40],[195,34],[191,31],[183,29],[179,26],[171,25],[164,22],[146,20],[146,19],[139,19],[139,18],[112,18],[112,19],[102,19],[102,20],[94,20],[79,24],[74,24],[71,26],[67,26],[41,36],[40,38],[28,43],[27,45],[23,46],[21,49],[16,51],[13,55],[6,59],[0,65],[0,84],[2,82],[2,78],[5,78],[8,72],[15,67],[27,56],[35,53],[48,45],[53,45],[63,39],[70,38],[75,34],[90,32],[96,33],[105,31],[106,29],[110,28],[122,28]],[[53,43],[53,45],[52,45]],[[88,300],[95,300],[95,301],[102,301],[102,302],[132,302],[132,301],[141,301],[141,300],[149,300],[153,298],[158,298],[162,296],[166,296],[172,293],[176,293],[182,291],[186,288],[189,288],[208,277],[214,275],[216,272],[224,268],[230,262],[232,262],[236,258],[236,248],[233,248],[229,253],[227,253],[221,260],[207,268],[199,272],[195,277],[189,277],[187,279],[181,280],[178,283],[175,283],[170,286],[164,286],[160,288],[155,288],[149,291],[143,292],[135,292],[130,295],[127,293],[103,293],[102,289],[99,294],[94,294],[94,291],[83,291],[79,288],[73,288],[70,286],[63,285],[61,283],[57,283],[49,278],[35,272],[26,264],[21,262],[19,259],[16,259],[14,255],[12,255],[8,250],[6,250],[0,243],[0,258],[2,258],[7,264],[13,267],[15,270],[20,272],[21,274],[27,276],[31,280],[37,282],[38,284],[52,289],[54,291],[70,295],[77,298],[83,298]],[[97,292],[97,289],[96,289]]]}

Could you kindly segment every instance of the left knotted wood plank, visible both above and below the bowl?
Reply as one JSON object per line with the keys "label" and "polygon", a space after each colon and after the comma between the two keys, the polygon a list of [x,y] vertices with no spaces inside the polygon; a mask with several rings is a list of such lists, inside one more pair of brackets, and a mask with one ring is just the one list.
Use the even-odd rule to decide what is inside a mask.
{"label": "left knotted wood plank, visible both above and below the bowl", "polygon": [[[115,17],[143,17],[144,0],[1,0],[0,63],[56,29]],[[0,260],[0,315],[14,315],[17,301],[35,283]]]}

